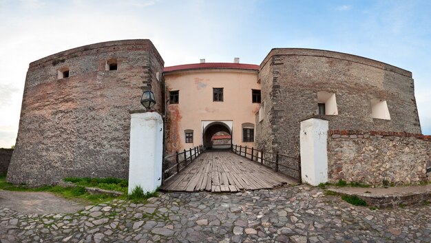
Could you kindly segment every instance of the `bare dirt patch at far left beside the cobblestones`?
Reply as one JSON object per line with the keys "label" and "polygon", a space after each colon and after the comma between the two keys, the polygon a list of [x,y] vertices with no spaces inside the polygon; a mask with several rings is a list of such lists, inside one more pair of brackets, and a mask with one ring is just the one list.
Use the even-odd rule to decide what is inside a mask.
{"label": "bare dirt patch at far left beside the cobblestones", "polygon": [[87,206],[48,192],[0,190],[0,207],[19,213],[76,213]]}

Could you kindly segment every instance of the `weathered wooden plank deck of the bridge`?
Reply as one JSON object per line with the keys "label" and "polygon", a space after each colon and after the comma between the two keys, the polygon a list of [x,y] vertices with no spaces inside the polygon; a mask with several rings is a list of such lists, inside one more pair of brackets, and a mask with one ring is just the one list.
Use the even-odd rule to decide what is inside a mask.
{"label": "weathered wooden plank deck of the bridge", "polygon": [[272,189],[297,184],[272,169],[233,154],[230,151],[207,151],[186,169],[165,182],[163,191],[236,192]]}

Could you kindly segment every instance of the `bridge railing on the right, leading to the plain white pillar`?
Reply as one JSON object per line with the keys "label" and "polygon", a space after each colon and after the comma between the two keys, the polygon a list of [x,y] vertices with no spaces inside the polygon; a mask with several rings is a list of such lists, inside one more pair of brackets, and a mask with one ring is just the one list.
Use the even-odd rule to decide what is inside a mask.
{"label": "bridge railing on the right, leading to the plain white pillar", "polygon": [[302,183],[301,179],[301,157],[287,156],[285,154],[272,153],[254,147],[242,147],[242,145],[231,145],[231,151],[244,158],[248,158],[261,165],[274,169],[285,176],[292,178],[298,183]]}

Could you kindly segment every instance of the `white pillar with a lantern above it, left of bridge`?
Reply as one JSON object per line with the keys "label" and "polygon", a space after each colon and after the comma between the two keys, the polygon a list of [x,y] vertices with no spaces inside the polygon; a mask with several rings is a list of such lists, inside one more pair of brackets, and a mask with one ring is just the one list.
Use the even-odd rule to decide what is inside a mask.
{"label": "white pillar with a lantern above it, left of bridge", "polygon": [[134,113],[130,124],[129,193],[144,193],[162,183],[163,120],[156,112]]}

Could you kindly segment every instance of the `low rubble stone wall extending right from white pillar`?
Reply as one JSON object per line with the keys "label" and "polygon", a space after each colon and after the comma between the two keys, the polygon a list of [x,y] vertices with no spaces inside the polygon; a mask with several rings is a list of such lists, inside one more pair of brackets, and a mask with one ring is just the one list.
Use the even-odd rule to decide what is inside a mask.
{"label": "low rubble stone wall extending right from white pillar", "polygon": [[431,136],[386,131],[328,132],[328,180],[417,184],[427,178]]}

